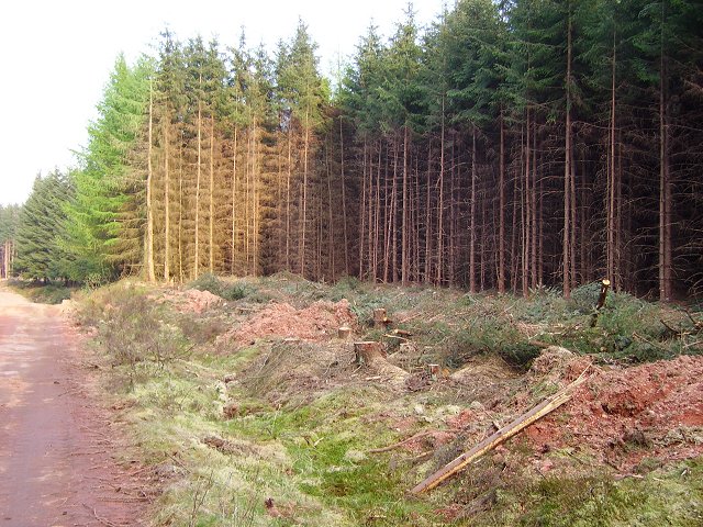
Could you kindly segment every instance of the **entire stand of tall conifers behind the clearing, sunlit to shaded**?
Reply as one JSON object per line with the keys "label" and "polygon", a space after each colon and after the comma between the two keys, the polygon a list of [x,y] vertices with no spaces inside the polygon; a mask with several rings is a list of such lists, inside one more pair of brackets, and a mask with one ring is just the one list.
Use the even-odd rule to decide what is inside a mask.
{"label": "entire stand of tall conifers behind the clearing, sunlit to shaded", "polygon": [[460,0],[426,29],[409,7],[334,83],[302,22],[272,54],[167,31],[118,58],[79,167],[0,209],[3,255],[74,281],[698,294],[701,27],[694,0]]}

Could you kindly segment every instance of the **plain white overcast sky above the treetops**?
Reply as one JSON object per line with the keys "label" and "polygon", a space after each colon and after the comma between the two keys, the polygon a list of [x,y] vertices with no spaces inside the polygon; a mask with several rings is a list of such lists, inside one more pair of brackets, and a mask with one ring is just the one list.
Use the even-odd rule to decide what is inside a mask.
{"label": "plain white overcast sky above the treetops", "polygon": [[[423,25],[444,0],[415,0]],[[178,38],[201,34],[272,49],[302,16],[320,45],[323,71],[348,56],[371,20],[389,36],[408,0],[10,0],[0,4],[0,204],[21,203],[34,177],[75,164],[87,143],[114,59],[149,53],[168,26]]]}

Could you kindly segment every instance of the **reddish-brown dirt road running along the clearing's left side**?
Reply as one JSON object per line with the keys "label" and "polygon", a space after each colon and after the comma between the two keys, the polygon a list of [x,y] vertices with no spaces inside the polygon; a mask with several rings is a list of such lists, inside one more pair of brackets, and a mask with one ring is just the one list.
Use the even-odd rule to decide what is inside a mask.
{"label": "reddish-brown dirt road running along the clearing's left side", "polygon": [[0,288],[0,527],[141,525],[89,380],[58,307]]}

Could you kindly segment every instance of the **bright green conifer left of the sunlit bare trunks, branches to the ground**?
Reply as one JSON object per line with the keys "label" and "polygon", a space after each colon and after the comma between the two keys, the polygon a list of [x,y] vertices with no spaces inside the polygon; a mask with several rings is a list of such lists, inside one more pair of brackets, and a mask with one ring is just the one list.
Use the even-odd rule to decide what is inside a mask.
{"label": "bright green conifer left of the sunlit bare trunks, branches to the ground", "polygon": [[130,211],[140,209],[142,200],[142,189],[134,184],[134,148],[145,120],[150,71],[147,59],[131,68],[118,57],[99,117],[88,128],[83,167],[74,176],[76,197],[67,209],[72,280],[113,278],[140,261],[138,213]]}

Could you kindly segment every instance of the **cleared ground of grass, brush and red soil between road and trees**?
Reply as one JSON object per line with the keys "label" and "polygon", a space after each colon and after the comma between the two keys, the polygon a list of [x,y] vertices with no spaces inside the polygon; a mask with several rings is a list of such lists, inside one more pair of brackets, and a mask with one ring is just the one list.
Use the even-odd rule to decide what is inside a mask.
{"label": "cleared ground of grass, brush and red soil between road and trees", "polygon": [[[74,318],[161,491],[153,525],[701,525],[701,313],[618,293],[591,327],[595,296],[201,277],[78,295]],[[357,365],[361,340],[383,360]],[[563,406],[410,493],[582,374]]]}

